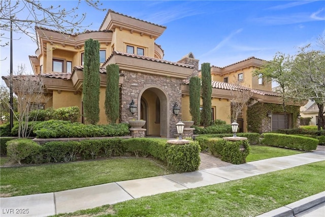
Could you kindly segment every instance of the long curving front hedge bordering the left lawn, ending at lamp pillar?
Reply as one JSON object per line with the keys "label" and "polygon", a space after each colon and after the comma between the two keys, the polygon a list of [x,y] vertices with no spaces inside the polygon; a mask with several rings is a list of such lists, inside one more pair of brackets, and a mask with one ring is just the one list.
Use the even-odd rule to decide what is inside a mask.
{"label": "long curving front hedge bordering the left lawn, ending at lamp pillar", "polygon": [[76,160],[78,154],[83,159],[96,159],[131,153],[135,156],[152,156],[176,172],[198,170],[201,150],[195,141],[172,145],[166,140],[148,138],[47,142],[43,145],[29,139],[15,139],[7,142],[7,148],[8,155],[18,163],[71,162]]}

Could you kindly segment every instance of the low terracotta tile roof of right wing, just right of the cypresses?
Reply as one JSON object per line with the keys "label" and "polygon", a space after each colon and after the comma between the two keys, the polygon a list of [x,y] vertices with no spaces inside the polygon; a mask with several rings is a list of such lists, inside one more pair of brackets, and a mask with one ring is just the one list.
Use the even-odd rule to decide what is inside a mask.
{"label": "low terracotta tile roof of right wing, just right of the cypresses", "polygon": [[[189,84],[189,80],[184,80],[183,84]],[[272,91],[266,91],[266,90],[261,90],[261,89],[252,89],[246,86],[238,85],[238,84],[231,84],[231,83],[224,83],[220,81],[212,81],[211,82],[212,88],[216,89],[227,89],[227,90],[249,90],[253,94],[258,94],[262,96],[274,96],[274,97],[280,97],[280,94],[277,92],[272,92]]]}

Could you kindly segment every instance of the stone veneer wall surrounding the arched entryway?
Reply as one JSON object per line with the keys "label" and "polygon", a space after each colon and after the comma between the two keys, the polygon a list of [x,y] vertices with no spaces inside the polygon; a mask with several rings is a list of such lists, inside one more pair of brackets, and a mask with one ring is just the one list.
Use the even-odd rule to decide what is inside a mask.
{"label": "stone veneer wall surrounding the arched entryway", "polygon": [[[127,122],[128,120],[132,120],[133,118],[140,118],[138,118],[138,111],[141,108],[141,102],[138,102],[139,94],[144,88],[148,86],[156,86],[167,93],[167,100],[170,103],[167,112],[167,117],[161,116],[161,118],[169,118],[170,137],[173,137],[174,134],[177,134],[176,123],[178,122],[179,118],[181,118],[182,114],[179,114],[176,117],[173,114],[173,105],[175,102],[177,102],[179,107],[182,106],[181,83],[183,79],[144,74],[140,72],[121,71],[121,73],[124,74],[124,81],[121,86],[120,97],[121,122]],[[132,115],[129,111],[129,103],[132,100],[134,100],[135,104],[138,106],[137,112],[134,115]]]}

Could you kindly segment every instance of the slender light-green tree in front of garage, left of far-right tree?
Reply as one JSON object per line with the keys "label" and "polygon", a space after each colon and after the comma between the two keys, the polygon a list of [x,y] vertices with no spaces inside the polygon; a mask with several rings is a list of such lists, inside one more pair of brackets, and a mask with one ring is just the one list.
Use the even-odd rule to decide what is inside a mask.
{"label": "slender light-green tree in front of garage, left of far-right tree", "polygon": [[[290,56],[277,52],[271,61],[265,61],[263,66],[253,72],[253,76],[262,76],[266,81],[275,81],[279,84],[276,88],[282,98],[283,113],[286,113],[286,102],[288,100],[287,89],[291,76]],[[285,128],[287,126],[287,115],[285,116]]]}

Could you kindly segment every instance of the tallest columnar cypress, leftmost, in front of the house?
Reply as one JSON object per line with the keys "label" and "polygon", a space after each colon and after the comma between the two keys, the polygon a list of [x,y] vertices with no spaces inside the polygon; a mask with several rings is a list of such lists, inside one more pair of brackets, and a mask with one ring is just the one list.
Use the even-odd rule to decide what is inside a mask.
{"label": "tallest columnar cypress, leftmost, in front of the house", "polygon": [[100,119],[100,43],[88,39],[84,53],[83,109],[86,121],[94,125]]}

